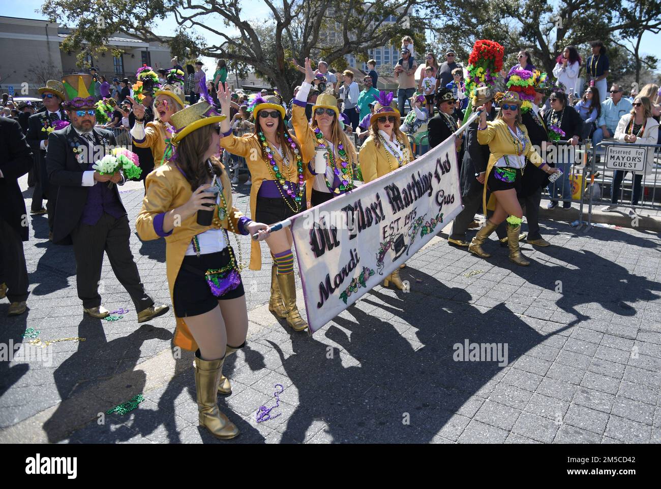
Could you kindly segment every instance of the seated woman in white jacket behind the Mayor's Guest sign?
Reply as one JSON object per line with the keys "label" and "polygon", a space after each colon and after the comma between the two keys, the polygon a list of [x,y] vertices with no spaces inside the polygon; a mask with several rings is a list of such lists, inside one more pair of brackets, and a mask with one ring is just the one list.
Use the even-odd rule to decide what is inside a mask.
{"label": "seated woman in white jacket behind the Mayor's Guest sign", "polygon": [[[652,104],[647,97],[636,97],[633,101],[633,109],[629,114],[621,117],[615,129],[615,140],[620,143],[631,143],[632,145],[656,145],[658,141],[659,123],[652,117]],[[644,174],[652,174],[654,165],[654,148],[647,148]],[[613,189],[611,191],[611,205],[604,207],[602,211],[614,211],[617,209],[617,200],[620,197],[620,188],[626,170],[615,170],[613,175]],[[632,172],[633,173],[633,172]],[[633,174],[633,193],[631,194],[631,205],[638,205],[642,193],[642,174]],[[633,209],[629,210],[629,216],[635,216]]]}

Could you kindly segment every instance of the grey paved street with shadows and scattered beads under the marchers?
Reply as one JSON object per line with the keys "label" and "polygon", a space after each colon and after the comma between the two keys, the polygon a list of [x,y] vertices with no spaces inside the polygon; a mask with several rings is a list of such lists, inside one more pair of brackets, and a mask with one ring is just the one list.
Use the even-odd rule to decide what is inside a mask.
{"label": "grey paved street with shadows and scattered beads under the marchers", "polygon": [[[134,228],[143,191],[131,188]],[[238,190],[245,211],[249,187]],[[0,362],[0,442],[221,443],[197,426],[192,354],[173,352],[172,311],[138,325],[106,259],[104,306],[129,311],[83,316],[71,247],[49,244],[44,216],[30,226],[30,310],[7,318],[0,302],[0,342],[27,341],[26,330],[85,341],[44,348],[52,362]],[[233,393],[219,405],[241,430],[227,443],[661,443],[660,236],[542,226],[552,246],[524,245],[529,267],[495,238],[488,260],[434,238],[402,271],[411,292],[377,286],[313,337],[268,312],[263,253],[262,271],[243,274],[247,347],[224,370]],[[165,242],[133,234],[131,247],[147,290],[169,304]],[[498,344],[506,364],[455,361],[473,342]],[[138,394],[128,414],[101,414]],[[258,423],[262,406],[274,408]]]}

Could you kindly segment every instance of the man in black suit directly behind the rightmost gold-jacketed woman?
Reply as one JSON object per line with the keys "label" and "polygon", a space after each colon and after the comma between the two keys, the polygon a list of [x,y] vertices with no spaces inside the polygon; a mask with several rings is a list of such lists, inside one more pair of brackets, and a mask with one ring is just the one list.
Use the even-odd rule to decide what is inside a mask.
{"label": "man in black suit directly behind the rightmost gold-jacketed woman", "polygon": [[[539,114],[539,104],[545,97],[545,88],[537,84],[535,86],[535,100],[533,100],[533,108],[522,114],[525,129],[528,131],[528,136],[533,146],[541,148],[542,156],[546,156],[545,148],[542,147],[545,143],[551,147],[549,141],[549,133],[544,123],[544,119]],[[526,158],[524,175],[521,179],[521,193],[518,195],[519,200],[525,205],[525,219],[528,223],[528,234],[525,242],[535,246],[549,246],[551,245],[547,240],[541,237],[539,232],[539,203],[541,201],[541,189],[549,183],[549,175],[540,170]]]}

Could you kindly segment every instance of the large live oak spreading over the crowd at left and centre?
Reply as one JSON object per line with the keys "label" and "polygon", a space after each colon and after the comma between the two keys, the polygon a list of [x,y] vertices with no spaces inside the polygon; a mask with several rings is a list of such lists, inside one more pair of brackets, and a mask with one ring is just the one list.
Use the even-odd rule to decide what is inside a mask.
{"label": "large live oak spreading over the crowd at left and centre", "polygon": [[[169,44],[180,57],[209,57],[244,63],[278,87],[284,98],[302,79],[290,63],[322,55],[329,63],[346,54],[365,55],[401,34],[414,34],[404,21],[416,0],[262,0],[270,13],[254,20],[241,0],[46,0],[44,14],[73,28],[63,49],[103,49],[115,33]],[[394,22],[388,22],[389,16]],[[174,18],[173,36],[159,23]],[[336,34],[329,41],[327,32]],[[214,42],[208,41],[213,38]]]}

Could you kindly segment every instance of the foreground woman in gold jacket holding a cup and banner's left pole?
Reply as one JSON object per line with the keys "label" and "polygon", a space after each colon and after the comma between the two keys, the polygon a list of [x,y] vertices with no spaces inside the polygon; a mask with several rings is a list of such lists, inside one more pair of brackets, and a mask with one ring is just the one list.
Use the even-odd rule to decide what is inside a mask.
{"label": "foreground woman in gold jacket holding a cup and banner's left pole", "polygon": [[[239,264],[226,230],[258,234],[260,240],[268,233],[266,224],[233,207],[227,172],[213,156],[220,148],[217,123],[224,118],[204,99],[172,117],[176,152],[147,176],[136,221],[142,240],[165,237],[174,342],[195,351],[200,426],[221,439],[239,434],[217,406],[218,392],[231,393],[223,363],[243,347],[248,332]],[[202,216],[210,224],[200,224]]]}

